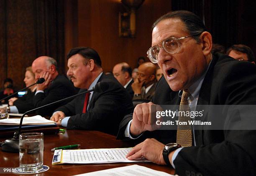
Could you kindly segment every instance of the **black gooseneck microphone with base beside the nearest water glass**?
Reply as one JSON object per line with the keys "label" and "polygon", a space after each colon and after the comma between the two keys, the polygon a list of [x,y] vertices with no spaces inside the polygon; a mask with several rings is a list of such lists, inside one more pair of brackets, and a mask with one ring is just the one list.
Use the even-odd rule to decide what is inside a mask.
{"label": "black gooseneck microphone with base beside the nearest water glass", "polygon": [[35,109],[32,109],[30,111],[27,111],[25,112],[21,118],[20,118],[20,125],[19,125],[19,131],[16,131],[13,135],[13,138],[12,139],[6,139],[5,141],[2,142],[2,151],[8,151],[8,152],[13,152],[13,153],[18,153],[19,152],[19,135],[21,134],[20,131],[21,131],[21,126],[22,126],[22,121],[23,121],[23,118],[26,114],[30,113],[30,112],[33,112],[35,110],[38,110],[38,109],[43,109],[45,107],[49,107],[53,104],[56,104],[56,103],[59,103],[59,102],[63,102],[65,100],[68,100],[68,99],[72,99],[74,97],[77,97],[79,95],[82,95],[82,94],[86,94],[88,92],[105,92],[106,90],[108,90],[108,83],[107,82],[98,82],[95,87],[92,87],[92,89],[90,90],[87,90],[85,92],[81,92],[79,94],[75,94],[73,96],[70,96],[70,97],[67,97],[67,98],[64,98],[64,99],[61,99],[61,100],[58,100],[56,102],[52,102],[50,104],[46,104],[44,106],[41,106],[41,107],[38,107],[38,108],[35,108]]}

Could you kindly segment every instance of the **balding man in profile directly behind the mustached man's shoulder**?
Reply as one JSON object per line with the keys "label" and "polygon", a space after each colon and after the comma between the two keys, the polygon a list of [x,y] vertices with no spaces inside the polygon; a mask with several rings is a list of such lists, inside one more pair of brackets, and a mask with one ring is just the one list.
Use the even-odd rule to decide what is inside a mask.
{"label": "balding man in profile directly behind the mustached man's shoulder", "polygon": [[120,84],[127,90],[127,92],[130,94],[131,98],[133,98],[133,89],[131,87],[131,84],[133,84],[132,79],[132,69],[126,62],[121,62],[116,64],[113,67],[113,75],[115,79],[120,82]]}

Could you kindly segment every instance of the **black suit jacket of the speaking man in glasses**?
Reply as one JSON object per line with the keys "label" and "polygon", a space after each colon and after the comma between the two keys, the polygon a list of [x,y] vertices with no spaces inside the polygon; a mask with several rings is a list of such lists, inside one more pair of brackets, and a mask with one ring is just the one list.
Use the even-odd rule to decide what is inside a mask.
{"label": "black suit jacket of the speaking man in glasses", "polygon": [[[164,94],[166,97],[161,97],[163,96],[163,92],[159,92],[161,89],[166,91]],[[153,102],[179,104],[178,92],[169,91],[166,88],[166,82],[161,79]],[[256,104],[256,66],[249,62],[236,61],[226,55],[214,56],[202,83],[197,102],[197,105],[207,104]],[[255,114],[250,115],[248,119],[255,117]],[[127,125],[131,118],[131,116],[126,116],[121,122],[118,138],[123,138],[125,123]],[[223,119],[225,124],[232,120],[232,117]],[[248,125],[250,121],[245,121],[245,123]],[[170,136],[169,140],[166,133]],[[145,135],[143,134],[144,138],[151,136],[156,136],[156,139],[164,141],[165,144],[176,141],[174,130],[147,131]],[[198,129],[195,130],[195,141],[197,146],[183,148],[174,160],[176,174],[180,176],[256,175],[255,130]]]}

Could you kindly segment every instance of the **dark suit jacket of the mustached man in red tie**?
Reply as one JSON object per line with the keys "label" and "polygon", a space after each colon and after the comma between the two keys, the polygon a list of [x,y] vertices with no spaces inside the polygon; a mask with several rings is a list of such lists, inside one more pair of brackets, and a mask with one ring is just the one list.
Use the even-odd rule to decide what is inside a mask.
{"label": "dark suit jacket of the mustached man in red tie", "polygon": [[116,135],[124,115],[132,112],[131,97],[112,75],[102,74],[98,82],[108,82],[109,88],[105,92],[93,93],[86,113],[82,113],[84,94],[56,109],[71,116],[67,129],[97,130]]}

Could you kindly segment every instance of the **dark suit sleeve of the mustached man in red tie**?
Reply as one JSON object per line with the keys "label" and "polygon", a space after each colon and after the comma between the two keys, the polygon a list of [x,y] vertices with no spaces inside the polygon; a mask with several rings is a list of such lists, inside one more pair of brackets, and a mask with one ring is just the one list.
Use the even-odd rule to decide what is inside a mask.
{"label": "dark suit sleeve of the mustached man in red tie", "polygon": [[[102,130],[108,126],[116,126],[121,121],[118,114],[131,112],[132,103],[129,94],[118,84],[108,82],[109,89],[103,93],[95,92],[86,113],[79,113],[69,118],[67,129]],[[94,98],[97,97],[97,99]],[[117,132],[117,130],[116,130]]]}

